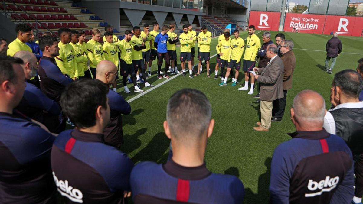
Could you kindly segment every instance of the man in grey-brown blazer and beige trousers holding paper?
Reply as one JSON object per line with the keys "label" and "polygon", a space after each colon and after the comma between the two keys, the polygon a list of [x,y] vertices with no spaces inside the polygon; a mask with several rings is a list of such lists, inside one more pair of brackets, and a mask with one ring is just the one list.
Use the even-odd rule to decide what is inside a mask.
{"label": "man in grey-brown blazer and beige trousers holding paper", "polygon": [[261,122],[257,122],[256,131],[269,131],[271,127],[272,102],[284,97],[282,77],[284,74],[284,62],[277,56],[278,48],[270,44],[266,48],[266,56],[270,58],[269,64],[265,68],[253,68],[258,72],[254,77],[260,83],[261,99]]}

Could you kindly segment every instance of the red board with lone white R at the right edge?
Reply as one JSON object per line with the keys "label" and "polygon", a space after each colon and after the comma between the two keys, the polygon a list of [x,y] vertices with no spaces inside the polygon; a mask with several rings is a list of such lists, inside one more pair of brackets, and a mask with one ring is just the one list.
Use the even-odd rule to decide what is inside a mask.
{"label": "red board with lone white R at the right edge", "polygon": [[362,36],[363,17],[355,16],[326,16],[323,34],[336,32],[343,36]]}

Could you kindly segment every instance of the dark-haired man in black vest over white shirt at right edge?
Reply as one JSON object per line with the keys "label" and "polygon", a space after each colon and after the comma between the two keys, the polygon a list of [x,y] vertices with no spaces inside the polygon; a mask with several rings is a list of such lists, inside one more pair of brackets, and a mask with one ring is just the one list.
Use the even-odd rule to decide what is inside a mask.
{"label": "dark-haired man in black vest over white shirt at right edge", "polygon": [[363,101],[359,93],[363,78],[354,70],[335,74],[330,93],[332,109],[324,117],[325,130],[343,138],[354,157],[355,191],[352,203],[362,204],[363,195]]}

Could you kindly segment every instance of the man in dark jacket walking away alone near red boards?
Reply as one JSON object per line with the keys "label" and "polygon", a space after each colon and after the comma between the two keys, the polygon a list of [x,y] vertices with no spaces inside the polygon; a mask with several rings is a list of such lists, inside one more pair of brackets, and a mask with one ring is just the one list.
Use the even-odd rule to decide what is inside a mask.
{"label": "man in dark jacket walking away alone near red boards", "polygon": [[[333,37],[326,43],[326,52],[325,70],[326,73],[331,74],[335,61],[337,60],[338,55],[342,52],[342,42],[338,39],[338,33],[333,33]],[[328,69],[330,59],[331,65]]]}

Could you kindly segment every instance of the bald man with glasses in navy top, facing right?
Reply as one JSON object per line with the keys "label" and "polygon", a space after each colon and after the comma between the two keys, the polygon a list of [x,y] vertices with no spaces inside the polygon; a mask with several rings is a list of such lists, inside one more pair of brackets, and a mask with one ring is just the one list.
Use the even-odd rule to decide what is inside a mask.
{"label": "bald man with glasses in navy top, facing right", "polygon": [[[106,83],[108,86],[112,85],[116,80],[116,76],[118,76],[115,64],[107,60],[99,62],[96,71],[96,79]],[[123,144],[122,114],[130,114],[131,106],[115,91],[110,90],[107,98],[109,98],[111,114],[110,122],[103,130],[103,139],[106,144],[120,148]]]}

